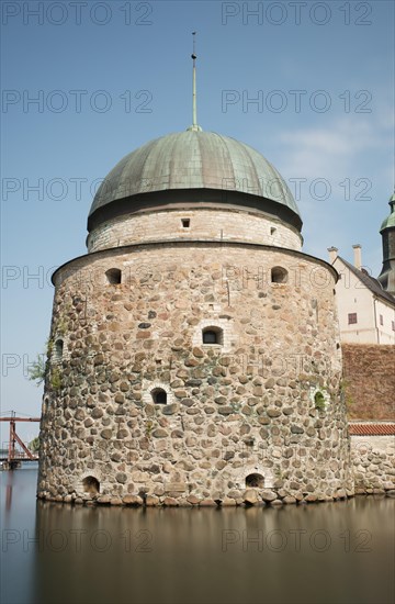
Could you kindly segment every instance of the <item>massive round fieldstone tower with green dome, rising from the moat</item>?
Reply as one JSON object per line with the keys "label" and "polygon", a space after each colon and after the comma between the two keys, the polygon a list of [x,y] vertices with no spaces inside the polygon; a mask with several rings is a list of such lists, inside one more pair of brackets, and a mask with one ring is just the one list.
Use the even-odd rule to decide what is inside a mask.
{"label": "massive round fieldstone tower with green dome, rising from the moat", "polygon": [[337,273],[258,152],[191,127],[98,191],[54,273],[38,496],[236,505],[352,493]]}

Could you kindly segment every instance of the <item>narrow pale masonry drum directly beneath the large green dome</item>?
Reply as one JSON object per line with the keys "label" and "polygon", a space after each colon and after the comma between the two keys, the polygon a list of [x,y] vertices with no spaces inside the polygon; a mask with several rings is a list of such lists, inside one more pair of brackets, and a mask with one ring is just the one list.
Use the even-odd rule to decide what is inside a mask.
{"label": "narrow pale masonry drum directly beneath the large green dome", "polygon": [[[190,220],[189,227],[182,225],[185,219]],[[109,220],[88,236],[88,251],[176,238],[245,241],[297,250],[302,247],[300,233],[274,216],[206,208],[153,211]]]}

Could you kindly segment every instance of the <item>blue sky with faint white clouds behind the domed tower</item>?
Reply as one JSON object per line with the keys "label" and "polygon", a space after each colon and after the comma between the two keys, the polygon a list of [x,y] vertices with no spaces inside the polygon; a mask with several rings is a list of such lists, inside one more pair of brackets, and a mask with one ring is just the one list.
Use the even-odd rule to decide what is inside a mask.
{"label": "blue sky with faint white clouds behind the domed tower", "polygon": [[[304,250],[381,270],[394,169],[394,4],[8,2],[2,27],[3,411],[40,415],[25,378],[50,325],[50,273],[86,253],[101,178],[198,119],[262,153],[296,197]],[[34,101],[34,99],[36,101]],[[24,438],[36,425],[20,425]],[[7,439],[2,433],[1,439]]]}

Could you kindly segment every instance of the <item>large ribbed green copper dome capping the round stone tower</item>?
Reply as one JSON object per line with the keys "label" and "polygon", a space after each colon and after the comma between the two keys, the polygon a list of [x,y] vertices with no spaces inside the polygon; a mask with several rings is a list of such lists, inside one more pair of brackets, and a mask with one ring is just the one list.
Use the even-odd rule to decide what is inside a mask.
{"label": "large ribbed green copper dome capping the round stone tower", "polygon": [[202,190],[237,193],[238,203],[279,210],[285,222],[302,227],[289,187],[260,153],[235,138],[193,128],[150,141],[121,159],[99,188],[88,224],[108,219],[121,203],[122,213],[135,211],[143,195],[147,205],[155,193],[185,190],[201,194],[202,201]]}

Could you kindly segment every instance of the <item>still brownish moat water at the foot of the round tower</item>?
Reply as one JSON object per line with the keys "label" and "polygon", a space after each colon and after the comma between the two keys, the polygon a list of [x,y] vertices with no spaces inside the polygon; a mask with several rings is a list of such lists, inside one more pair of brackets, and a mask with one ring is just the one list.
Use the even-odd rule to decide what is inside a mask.
{"label": "still brownish moat water at the foot of the round tower", "polygon": [[390,604],[394,500],[81,507],[1,472],[2,604]]}

